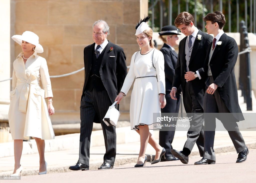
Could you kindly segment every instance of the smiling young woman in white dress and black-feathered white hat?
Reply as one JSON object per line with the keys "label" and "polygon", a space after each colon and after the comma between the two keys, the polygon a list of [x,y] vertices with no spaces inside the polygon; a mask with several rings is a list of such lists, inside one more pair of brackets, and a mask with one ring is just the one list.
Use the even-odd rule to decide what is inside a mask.
{"label": "smiling young woman in white dress and black-feathered white hat", "polygon": [[165,149],[156,142],[149,132],[149,129],[161,128],[159,127],[161,123],[157,123],[156,119],[153,119],[153,113],[160,115],[166,100],[164,56],[161,51],[154,48],[153,30],[146,23],[148,19],[148,17],[144,18],[136,26],[135,35],[141,50],[133,54],[129,72],[125,77],[121,92],[115,99],[118,101],[117,103],[120,103],[135,79],[130,104],[130,121],[131,129],[140,134],[141,142],[135,167],[145,166],[147,143],[156,150],[155,160],[151,164],[160,162],[162,155],[165,154]]}

